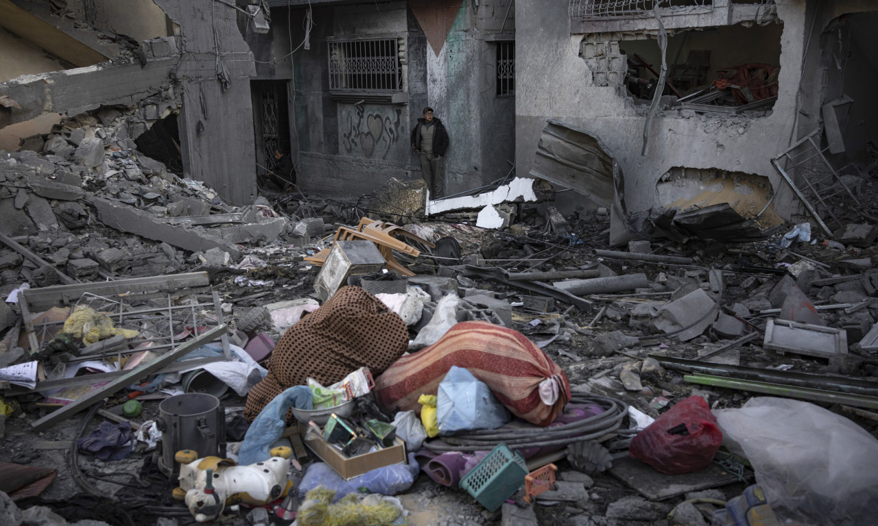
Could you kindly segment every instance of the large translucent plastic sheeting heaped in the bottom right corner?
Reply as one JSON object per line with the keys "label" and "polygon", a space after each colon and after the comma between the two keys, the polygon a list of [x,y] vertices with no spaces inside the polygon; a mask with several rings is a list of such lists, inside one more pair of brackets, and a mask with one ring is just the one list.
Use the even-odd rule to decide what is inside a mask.
{"label": "large translucent plastic sheeting heaped in the bottom right corner", "polygon": [[779,518],[875,523],[878,439],[866,430],[810,402],[767,396],[714,414],[723,445],[750,460]]}

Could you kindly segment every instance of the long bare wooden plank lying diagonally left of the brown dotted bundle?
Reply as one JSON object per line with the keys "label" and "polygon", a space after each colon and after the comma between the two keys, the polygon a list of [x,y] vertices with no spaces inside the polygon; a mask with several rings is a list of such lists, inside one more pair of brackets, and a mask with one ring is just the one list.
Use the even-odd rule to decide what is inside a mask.
{"label": "long bare wooden plank lying diagonally left of the brown dotted bundle", "polygon": [[222,336],[225,331],[225,324],[218,325],[210,331],[206,331],[198,338],[191,339],[190,341],[186,342],[183,345],[180,345],[176,349],[162,354],[162,356],[149,362],[147,365],[137,367],[136,369],[129,371],[125,375],[120,376],[116,380],[112,380],[104,387],[92,391],[87,395],[84,395],[79,400],[68,403],[68,405],[48,414],[47,416],[43,416],[36,422],[32,423],[33,430],[45,430],[55,423],[67,420],[70,416],[73,416],[79,411],[88,408],[91,404],[104,399],[104,397],[112,395],[113,393],[119,391],[119,389],[146,378],[150,374],[162,369],[162,367],[168,366],[174,360],[198,349],[198,347],[200,347],[201,345],[212,342],[214,338],[219,338],[220,336]]}

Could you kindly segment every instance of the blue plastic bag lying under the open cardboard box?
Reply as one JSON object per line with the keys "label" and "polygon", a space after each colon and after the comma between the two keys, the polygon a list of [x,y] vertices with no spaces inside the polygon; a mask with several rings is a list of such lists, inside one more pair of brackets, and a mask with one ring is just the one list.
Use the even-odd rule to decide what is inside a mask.
{"label": "blue plastic bag lying under the open cardboard box", "polygon": [[351,480],[344,480],[342,475],[338,474],[332,466],[324,462],[317,462],[305,472],[305,477],[299,484],[299,498],[304,499],[306,493],[318,486],[326,486],[335,490],[334,502],[352,493],[400,494],[412,487],[419,470],[414,453],[408,454],[407,465],[393,464],[378,467]]}

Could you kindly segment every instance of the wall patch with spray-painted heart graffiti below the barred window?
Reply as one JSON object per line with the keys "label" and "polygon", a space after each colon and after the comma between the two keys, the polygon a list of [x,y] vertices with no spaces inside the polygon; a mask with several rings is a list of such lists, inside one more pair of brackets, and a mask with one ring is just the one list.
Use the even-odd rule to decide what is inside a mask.
{"label": "wall patch with spray-painted heart graffiti below the barred window", "polygon": [[339,112],[340,149],[344,153],[369,159],[402,159],[408,152],[405,147],[393,147],[406,134],[400,108],[374,105],[367,109],[351,104],[342,106]]}

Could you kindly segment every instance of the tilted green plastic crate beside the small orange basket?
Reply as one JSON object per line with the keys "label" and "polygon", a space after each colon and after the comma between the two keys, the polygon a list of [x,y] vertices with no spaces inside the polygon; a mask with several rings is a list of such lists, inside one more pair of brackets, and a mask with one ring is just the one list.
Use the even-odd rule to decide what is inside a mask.
{"label": "tilted green plastic crate beside the small orange basket", "polygon": [[522,487],[527,474],[528,466],[522,455],[510,451],[506,444],[500,444],[470,473],[466,473],[460,480],[460,487],[488,511],[494,511]]}

